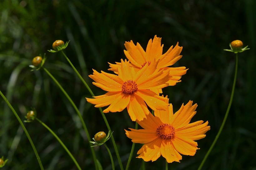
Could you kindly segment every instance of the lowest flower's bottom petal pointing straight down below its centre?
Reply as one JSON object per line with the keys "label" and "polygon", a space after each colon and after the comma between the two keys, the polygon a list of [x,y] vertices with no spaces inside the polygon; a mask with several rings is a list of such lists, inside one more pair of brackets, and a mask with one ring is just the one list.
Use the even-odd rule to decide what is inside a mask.
{"label": "lowest flower's bottom petal pointing straight down below its centre", "polygon": [[161,144],[161,154],[166,159],[168,163],[180,162],[182,156],[179,152],[173,147],[170,140],[163,140]]}

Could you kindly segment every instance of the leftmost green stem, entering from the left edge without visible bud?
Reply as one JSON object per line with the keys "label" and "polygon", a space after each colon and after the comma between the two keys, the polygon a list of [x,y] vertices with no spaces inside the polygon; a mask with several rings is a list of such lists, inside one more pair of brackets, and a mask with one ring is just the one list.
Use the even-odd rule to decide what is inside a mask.
{"label": "leftmost green stem, entering from the left edge without visible bud", "polygon": [[37,149],[36,149],[36,147],[35,147],[35,145],[34,145],[32,139],[30,138],[30,136],[29,136],[29,134],[28,134],[28,132],[27,132],[27,129],[25,128],[25,126],[24,126],[24,124],[22,123],[20,117],[18,116],[18,114],[16,113],[16,111],[13,109],[12,105],[11,105],[10,102],[7,100],[7,98],[3,95],[3,93],[1,92],[1,90],[0,90],[0,94],[1,94],[2,98],[5,100],[5,102],[7,103],[7,105],[10,107],[10,109],[12,110],[12,112],[14,113],[14,115],[16,116],[16,118],[18,119],[19,123],[21,124],[21,127],[23,128],[25,134],[27,135],[27,138],[28,138],[28,140],[29,140],[29,142],[30,142],[30,144],[31,144],[31,146],[32,146],[32,148],[33,148],[35,154],[36,154],[37,161],[38,161],[38,163],[39,163],[39,166],[40,166],[41,170],[44,170],[43,165],[42,165],[42,162],[41,162],[41,160],[40,160],[40,157],[39,157],[39,155],[38,155],[38,153],[37,153]]}

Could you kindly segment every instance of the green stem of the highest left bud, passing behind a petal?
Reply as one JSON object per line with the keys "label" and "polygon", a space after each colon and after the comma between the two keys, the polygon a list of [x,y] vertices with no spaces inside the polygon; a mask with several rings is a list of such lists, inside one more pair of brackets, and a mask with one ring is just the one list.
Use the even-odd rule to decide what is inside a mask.
{"label": "green stem of the highest left bud, passing behind a petal", "polygon": [[[71,63],[71,61],[68,59],[68,57],[66,56],[66,54],[63,52],[63,50],[61,51],[62,54],[64,55],[64,57],[66,58],[66,60],[69,62],[69,64],[71,65],[71,67],[74,69],[74,71],[76,72],[76,74],[78,75],[78,77],[81,79],[81,81],[84,83],[84,85],[86,86],[86,88],[88,89],[88,91],[90,92],[91,96],[95,96],[93,94],[93,92],[91,91],[91,88],[87,85],[87,83],[85,82],[85,80],[82,78],[82,76],[78,73],[78,71],[76,70],[76,68],[74,67],[74,65]],[[108,121],[106,119],[106,116],[105,114],[103,113],[102,109],[99,108],[100,112],[101,112],[101,116],[103,117],[103,120],[105,121],[105,124],[108,128],[108,130],[110,131],[110,134],[112,133],[111,131],[111,128],[108,124]],[[111,141],[113,143],[113,146],[114,146],[114,149],[115,149],[115,152],[116,152],[116,157],[118,159],[118,162],[119,162],[119,165],[120,165],[120,168],[121,170],[123,170],[123,165],[122,165],[122,161],[121,161],[121,158],[120,158],[120,155],[119,155],[119,152],[118,152],[118,149],[117,149],[117,146],[116,146],[116,142],[115,142],[115,139],[113,137],[113,135],[111,135]]]}

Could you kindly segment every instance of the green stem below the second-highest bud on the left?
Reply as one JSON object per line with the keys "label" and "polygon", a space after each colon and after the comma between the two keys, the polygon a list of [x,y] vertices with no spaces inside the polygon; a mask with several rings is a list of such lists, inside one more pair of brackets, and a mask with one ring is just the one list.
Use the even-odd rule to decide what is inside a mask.
{"label": "green stem below the second-highest bud on the left", "polygon": [[[69,102],[71,103],[71,105],[74,107],[77,115],[79,116],[80,120],[81,120],[81,123],[83,125],[83,128],[85,130],[85,133],[86,133],[86,136],[87,136],[87,139],[90,139],[90,134],[89,134],[89,131],[87,130],[87,127],[86,127],[86,124],[81,116],[81,113],[80,111],[78,110],[78,108],[76,107],[75,103],[72,101],[72,99],[69,97],[69,95],[66,93],[66,91],[63,89],[63,87],[60,85],[60,83],[53,77],[53,75],[45,68],[45,67],[42,67],[44,69],[44,71],[52,78],[52,80],[59,86],[59,88],[61,89],[61,91],[64,93],[64,95],[66,96],[66,98],[69,100]],[[91,143],[89,143],[90,146],[92,146]],[[91,148],[91,147],[90,147]],[[95,164],[95,167],[97,169],[97,158],[96,158],[96,154],[95,154],[95,151],[93,150],[93,148],[91,148],[91,153],[92,153],[92,157],[93,157],[93,160],[94,160],[94,164]]]}

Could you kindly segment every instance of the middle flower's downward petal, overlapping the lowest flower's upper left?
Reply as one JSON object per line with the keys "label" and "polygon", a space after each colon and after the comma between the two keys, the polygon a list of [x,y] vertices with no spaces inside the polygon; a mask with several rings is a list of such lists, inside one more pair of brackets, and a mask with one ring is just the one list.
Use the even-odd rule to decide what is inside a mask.
{"label": "middle flower's downward petal, overlapping the lowest flower's upper left", "polygon": [[127,111],[132,121],[143,120],[149,114],[149,110],[144,100],[137,95],[130,95],[130,102]]}

